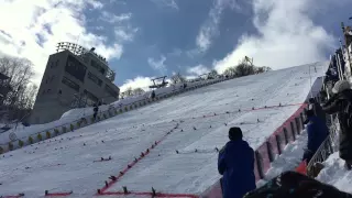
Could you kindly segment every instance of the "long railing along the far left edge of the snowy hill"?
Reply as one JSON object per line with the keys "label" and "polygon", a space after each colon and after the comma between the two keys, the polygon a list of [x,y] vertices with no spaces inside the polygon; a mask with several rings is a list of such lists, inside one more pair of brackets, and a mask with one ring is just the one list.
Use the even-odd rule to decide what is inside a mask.
{"label": "long railing along the far left edge of the snowy hill", "polygon": [[[221,82],[221,81],[229,80],[229,79],[233,79],[233,78],[210,79],[210,80],[206,80],[206,82],[198,81],[198,82],[195,82],[195,85],[190,85],[185,89],[178,88],[178,89],[173,90],[172,92],[158,94],[155,96],[154,99],[144,98],[144,99],[133,101],[131,103],[122,105],[121,107],[113,107],[113,108],[108,109],[106,111],[99,112],[97,114],[97,119],[94,119],[92,113],[91,113],[91,114],[81,117],[79,119],[76,119],[74,121],[69,121],[64,124],[55,125],[53,128],[48,128],[48,129],[42,130],[40,132],[32,133],[31,135],[23,136],[21,139],[15,139],[15,140],[8,142],[6,144],[0,144],[0,154],[23,147],[25,145],[34,144],[36,142],[44,141],[44,140],[47,140],[47,139],[51,139],[54,136],[58,136],[58,135],[64,134],[66,132],[70,132],[70,131],[74,131],[74,130],[77,130],[77,129],[80,129],[80,128],[84,128],[87,125],[91,125],[91,124],[97,123],[99,121],[112,118],[114,116],[131,111],[131,110],[140,108],[140,107],[144,107],[146,105],[153,103],[154,101],[158,101],[161,99],[173,97],[173,96],[183,94],[185,91],[194,90],[197,88],[213,85],[213,84]],[[10,133],[10,135],[13,135],[13,134]],[[10,140],[11,140],[11,138],[10,138]]]}

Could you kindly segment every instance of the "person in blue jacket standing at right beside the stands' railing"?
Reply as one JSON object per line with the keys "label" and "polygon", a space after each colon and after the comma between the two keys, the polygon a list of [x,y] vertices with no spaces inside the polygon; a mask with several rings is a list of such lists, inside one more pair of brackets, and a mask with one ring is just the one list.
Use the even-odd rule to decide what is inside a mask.
{"label": "person in blue jacket standing at right beside the stands' railing", "polygon": [[305,151],[302,160],[309,163],[311,157],[315,155],[321,143],[329,135],[329,129],[319,117],[317,117],[314,110],[307,111],[307,133],[308,133],[308,144]]}

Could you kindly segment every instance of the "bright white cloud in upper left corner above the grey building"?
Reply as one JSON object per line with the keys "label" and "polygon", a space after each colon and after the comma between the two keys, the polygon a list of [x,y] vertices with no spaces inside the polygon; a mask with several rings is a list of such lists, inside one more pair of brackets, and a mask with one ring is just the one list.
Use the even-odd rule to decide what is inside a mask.
{"label": "bright white cloud in upper left corner above the grey building", "polygon": [[119,58],[122,46],[87,32],[82,11],[101,8],[96,0],[12,0],[0,7],[0,54],[29,58],[40,84],[47,57],[57,42],[77,42],[97,48],[107,58]]}

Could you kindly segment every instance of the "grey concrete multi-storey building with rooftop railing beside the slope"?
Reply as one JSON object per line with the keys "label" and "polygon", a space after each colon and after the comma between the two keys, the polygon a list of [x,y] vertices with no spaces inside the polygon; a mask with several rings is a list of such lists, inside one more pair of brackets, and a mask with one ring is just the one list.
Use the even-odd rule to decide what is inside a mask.
{"label": "grey concrete multi-storey building with rooftop railing beside the slope", "polygon": [[94,47],[58,43],[56,53],[48,57],[30,123],[47,123],[73,108],[118,100],[120,89],[113,84],[114,77]]}

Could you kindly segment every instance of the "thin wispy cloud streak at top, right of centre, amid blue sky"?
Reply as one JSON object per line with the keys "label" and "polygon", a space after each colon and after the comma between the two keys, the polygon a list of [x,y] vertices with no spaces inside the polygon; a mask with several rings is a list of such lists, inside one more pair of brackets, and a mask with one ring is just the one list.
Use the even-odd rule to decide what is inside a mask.
{"label": "thin wispy cloud streak at top, right of centre, amid blue sky", "polygon": [[206,52],[211,43],[212,38],[219,35],[219,23],[222,11],[227,8],[240,9],[235,0],[216,0],[213,8],[209,11],[209,18],[201,25],[196,38],[196,44],[200,52]]}

